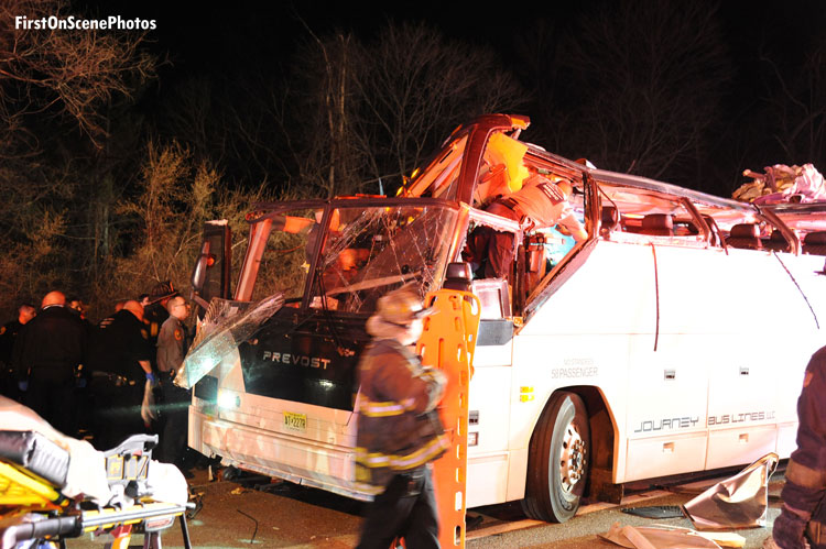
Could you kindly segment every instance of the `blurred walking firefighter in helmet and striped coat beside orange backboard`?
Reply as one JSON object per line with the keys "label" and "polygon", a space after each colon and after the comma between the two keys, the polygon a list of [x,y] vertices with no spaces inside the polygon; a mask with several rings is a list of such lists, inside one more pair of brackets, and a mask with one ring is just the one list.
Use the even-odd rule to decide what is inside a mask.
{"label": "blurred walking firefighter in helmet and striped coat beside orange backboard", "polygon": [[387,549],[404,538],[411,549],[439,547],[430,462],[448,447],[435,409],[446,378],[422,365],[409,345],[422,334],[423,309],[413,289],[379,299],[367,322],[373,337],[359,362],[356,480],[376,494],[358,547]]}

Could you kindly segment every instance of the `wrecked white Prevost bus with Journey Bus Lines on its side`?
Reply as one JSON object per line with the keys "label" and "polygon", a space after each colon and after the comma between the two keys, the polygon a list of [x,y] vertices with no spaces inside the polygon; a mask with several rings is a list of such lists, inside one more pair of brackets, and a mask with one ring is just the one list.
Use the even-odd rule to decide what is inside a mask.
{"label": "wrecked white Prevost bus with Journey Bus Lines on its side", "polygon": [[[219,364],[189,373],[203,375],[189,446],[368,498],[352,451],[365,322],[379,296],[414,281],[422,295],[469,287],[482,304],[468,507],[522,499],[529,516],[563,521],[580,497],[616,498],[630,481],[787,457],[803,370],[826,342],[824,256],[802,243],[822,211],[596,169],[520,141],[528,124],[496,114],[459,127],[394,198],[257,205],[231,294],[226,224],[208,226],[194,282],[202,303],[225,299],[210,315],[284,300],[235,333]],[[483,211],[531,173],[573,182],[587,240]],[[463,278],[479,226],[514,233],[509,279]]]}

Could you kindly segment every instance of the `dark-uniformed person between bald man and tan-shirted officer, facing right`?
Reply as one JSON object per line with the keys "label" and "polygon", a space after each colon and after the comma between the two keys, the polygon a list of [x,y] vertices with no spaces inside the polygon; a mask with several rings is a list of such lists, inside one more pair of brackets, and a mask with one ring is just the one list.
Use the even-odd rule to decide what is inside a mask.
{"label": "dark-uniformed person between bald man and tan-shirted officer, facing right", "polygon": [[95,447],[106,450],[146,428],[141,417],[145,382],[156,383],[145,336],[143,307],[134,300],[102,320],[93,337],[88,365],[95,394]]}

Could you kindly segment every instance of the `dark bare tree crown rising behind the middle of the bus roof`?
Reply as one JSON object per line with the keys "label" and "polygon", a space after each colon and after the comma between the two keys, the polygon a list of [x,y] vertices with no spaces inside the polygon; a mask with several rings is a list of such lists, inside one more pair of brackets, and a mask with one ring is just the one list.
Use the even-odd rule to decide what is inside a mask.
{"label": "dark bare tree crown rising behind the middle of the bus roof", "polygon": [[[675,177],[695,169],[730,78],[708,2],[607,2],[566,41],[559,86],[582,90],[559,128],[575,151],[610,169]],[[691,182],[681,182],[691,184]]]}

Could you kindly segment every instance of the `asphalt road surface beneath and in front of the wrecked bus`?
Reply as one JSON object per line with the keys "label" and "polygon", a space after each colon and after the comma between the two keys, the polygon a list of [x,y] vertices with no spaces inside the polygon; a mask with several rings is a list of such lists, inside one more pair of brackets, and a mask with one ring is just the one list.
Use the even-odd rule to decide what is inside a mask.
{"label": "asphalt road surface beneath and in front of the wrecked bus", "polygon": [[[687,518],[649,519],[629,515],[622,507],[682,505],[693,495],[675,492],[698,492],[724,477],[662,490],[648,485],[634,486],[621,506],[590,504],[565,524],[546,524],[524,517],[519,503],[471,509],[477,518],[467,535],[471,549],[533,547],[547,549],[617,548],[598,537],[612,524],[622,526],[671,525],[691,528]],[[762,546],[771,534],[771,524],[780,513],[778,495],[781,473],[770,484],[769,527],[737,530],[746,538],[746,548]],[[196,471],[189,481],[191,492],[199,502],[187,521],[193,547],[197,548],[349,548],[355,547],[366,504],[322,491],[290,483],[270,483],[268,479],[209,481],[207,471]],[[176,523],[163,536],[165,548],[182,547]],[[67,541],[69,549],[101,548],[111,540],[90,536]],[[135,535],[130,547],[141,547],[142,536]]]}

